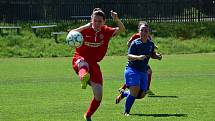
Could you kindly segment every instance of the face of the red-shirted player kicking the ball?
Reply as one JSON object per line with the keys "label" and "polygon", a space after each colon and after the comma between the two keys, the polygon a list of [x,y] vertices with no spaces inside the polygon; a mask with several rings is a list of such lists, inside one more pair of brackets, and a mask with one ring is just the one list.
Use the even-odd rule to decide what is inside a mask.
{"label": "face of the red-shirted player kicking the ball", "polygon": [[100,30],[101,27],[105,24],[105,20],[102,16],[93,16],[92,17],[92,26],[95,30]]}

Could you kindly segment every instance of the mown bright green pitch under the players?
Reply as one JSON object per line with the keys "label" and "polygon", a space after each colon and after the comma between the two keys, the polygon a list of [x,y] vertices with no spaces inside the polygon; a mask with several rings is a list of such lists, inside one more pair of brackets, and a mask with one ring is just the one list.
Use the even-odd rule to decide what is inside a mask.
{"label": "mown bright green pitch under the players", "polygon": [[[104,97],[93,121],[214,121],[215,53],[166,55],[151,60],[151,89],[157,94],[136,100],[131,116],[116,105],[123,83],[125,56],[101,63]],[[1,58],[1,121],[82,121],[92,92],[80,88],[71,58]]]}

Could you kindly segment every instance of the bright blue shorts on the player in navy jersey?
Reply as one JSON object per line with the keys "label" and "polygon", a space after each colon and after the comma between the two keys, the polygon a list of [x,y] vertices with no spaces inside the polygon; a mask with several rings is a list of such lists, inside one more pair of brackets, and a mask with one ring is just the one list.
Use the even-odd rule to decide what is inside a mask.
{"label": "bright blue shorts on the player in navy jersey", "polygon": [[127,87],[140,86],[140,89],[146,92],[148,86],[148,74],[130,67],[126,67],[125,84]]}

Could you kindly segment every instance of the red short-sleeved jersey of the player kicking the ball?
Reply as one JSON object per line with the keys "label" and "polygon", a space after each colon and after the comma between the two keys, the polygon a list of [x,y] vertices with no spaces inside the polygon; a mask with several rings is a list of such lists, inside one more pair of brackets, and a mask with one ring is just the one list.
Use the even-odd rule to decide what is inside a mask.
{"label": "red short-sleeved jersey of the player kicking the ball", "polygon": [[88,62],[101,61],[107,52],[109,40],[115,30],[115,28],[102,26],[99,32],[93,28],[81,31],[84,41],[81,47],[76,48],[74,57],[81,56]]}

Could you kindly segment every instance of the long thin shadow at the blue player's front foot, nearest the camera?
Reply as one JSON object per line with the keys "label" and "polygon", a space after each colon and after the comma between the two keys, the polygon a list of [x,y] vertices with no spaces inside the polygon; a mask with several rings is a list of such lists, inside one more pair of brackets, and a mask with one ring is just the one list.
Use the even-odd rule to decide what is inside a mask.
{"label": "long thin shadow at the blue player's front foot, nearest the camera", "polygon": [[152,117],[187,117],[187,114],[130,114],[130,115]]}

